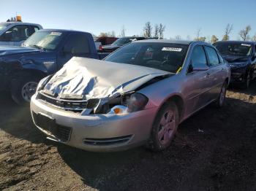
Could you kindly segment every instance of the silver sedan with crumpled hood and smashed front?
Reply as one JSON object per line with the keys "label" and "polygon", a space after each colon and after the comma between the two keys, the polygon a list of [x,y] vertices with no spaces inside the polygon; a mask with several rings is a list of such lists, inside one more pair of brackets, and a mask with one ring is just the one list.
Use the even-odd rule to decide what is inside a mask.
{"label": "silver sedan with crumpled hood and smashed front", "polygon": [[142,40],[104,61],[72,58],[39,82],[34,124],[48,139],[94,152],[166,149],[178,124],[225,102],[230,68],[205,42]]}

